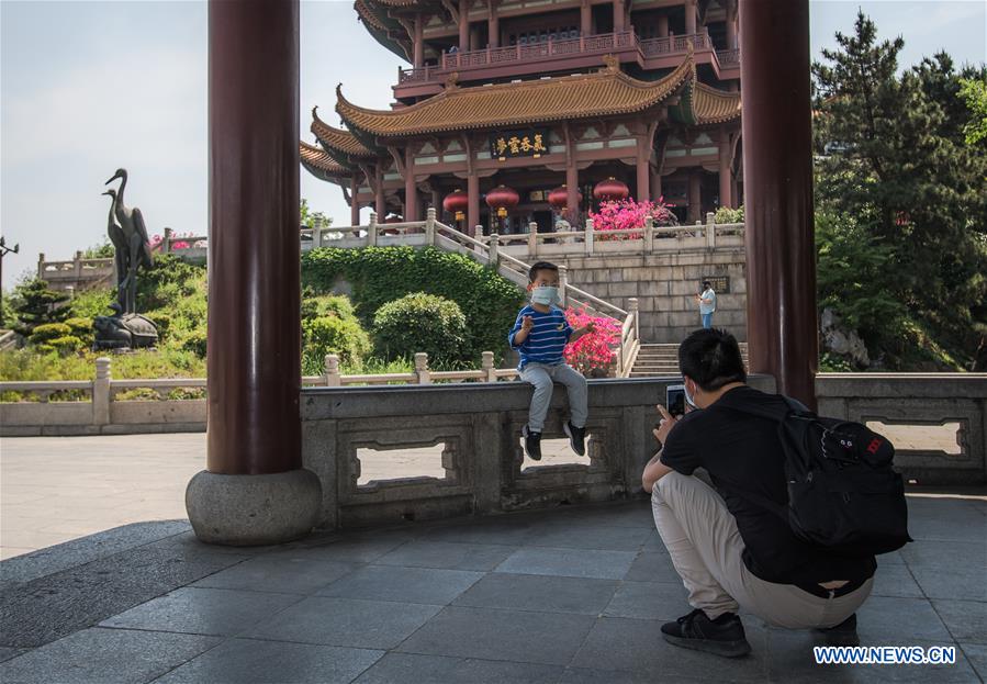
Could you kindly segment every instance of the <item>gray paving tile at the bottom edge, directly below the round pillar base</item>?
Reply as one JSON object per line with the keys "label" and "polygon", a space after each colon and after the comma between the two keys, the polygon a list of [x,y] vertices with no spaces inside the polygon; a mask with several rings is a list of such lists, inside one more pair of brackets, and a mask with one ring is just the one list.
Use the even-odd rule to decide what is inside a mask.
{"label": "gray paving tile at the bottom edge, directly below the round pillar base", "polygon": [[349,684],[383,651],[231,639],[155,684]]}

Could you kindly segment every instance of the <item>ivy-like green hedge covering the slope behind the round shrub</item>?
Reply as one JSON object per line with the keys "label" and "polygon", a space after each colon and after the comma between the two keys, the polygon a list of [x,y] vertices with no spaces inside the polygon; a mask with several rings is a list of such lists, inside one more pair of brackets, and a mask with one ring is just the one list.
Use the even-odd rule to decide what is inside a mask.
{"label": "ivy-like green hedge covering the slope behind the round shrub", "polygon": [[332,292],[337,280],[352,285],[356,313],[370,327],[385,303],[425,292],[459,304],[467,321],[460,360],[479,363],[482,351],[501,358],[524,294],[509,280],[471,258],[434,247],[324,247],[302,256],[302,283]]}

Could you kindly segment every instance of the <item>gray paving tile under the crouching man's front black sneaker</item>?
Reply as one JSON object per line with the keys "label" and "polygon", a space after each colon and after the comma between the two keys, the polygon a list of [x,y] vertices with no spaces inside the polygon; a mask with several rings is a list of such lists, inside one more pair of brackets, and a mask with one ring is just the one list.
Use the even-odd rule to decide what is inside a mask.
{"label": "gray paving tile under the crouching man's front black sneaker", "polygon": [[668,677],[761,682],[767,673],[766,630],[744,626],[753,651],[744,658],[717,658],[664,641],[654,620],[602,617],[570,665],[604,671],[661,673]]}

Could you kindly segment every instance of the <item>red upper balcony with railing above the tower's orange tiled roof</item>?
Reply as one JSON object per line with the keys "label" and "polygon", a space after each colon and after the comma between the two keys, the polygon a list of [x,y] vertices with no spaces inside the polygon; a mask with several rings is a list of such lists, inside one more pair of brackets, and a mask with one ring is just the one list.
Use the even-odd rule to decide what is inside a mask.
{"label": "red upper balcony with railing above the tower's orange tiled roof", "polygon": [[605,55],[614,55],[620,64],[636,64],[642,69],[670,69],[678,66],[689,45],[696,64],[709,65],[717,78],[740,78],[740,51],[717,51],[705,31],[693,35],[642,40],[631,30],[530,45],[444,53],[437,65],[399,69],[397,85],[393,86],[394,97],[437,94],[453,72],[460,81],[573,72],[602,66]]}

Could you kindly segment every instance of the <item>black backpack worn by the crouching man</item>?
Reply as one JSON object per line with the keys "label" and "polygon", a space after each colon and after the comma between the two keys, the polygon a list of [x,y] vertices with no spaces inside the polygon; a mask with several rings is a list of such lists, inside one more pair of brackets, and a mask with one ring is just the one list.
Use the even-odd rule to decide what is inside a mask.
{"label": "black backpack worn by the crouching man", "polygon": [[865,425],[822,418],[784,399],[783,407],[731,408],[778,422],[788,505],[738,494],[787,520],[804,541],[841,556],[888,553],[911,541],[905,482],[891,468],[891,442]]}

